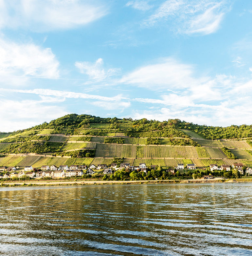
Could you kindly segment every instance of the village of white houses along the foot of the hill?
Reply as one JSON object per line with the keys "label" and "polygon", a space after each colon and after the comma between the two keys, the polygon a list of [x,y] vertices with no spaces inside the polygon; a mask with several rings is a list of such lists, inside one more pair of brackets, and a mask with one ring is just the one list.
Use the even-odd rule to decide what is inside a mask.
{"label": "village of white houses along the foot of the hill", "polygon": [[[0,179],[16,179],[16,178],[27,178],[29,179],[41,179],[41,178],[65,178],[65,177],[80,177],[82,175],[89,175],[90,177],[95,173],[99,173],[100,175],[112,175],[117,170],[125,170],[127,172],[144,172],[145,174],[149,170],[155,170],[158,168],[157,165],[150,165],[146,166],[145,163],[140,163],[137,166],[131,166],[129,163],[111,163],[110,166],[107,164],[98,164],[97,166],[94,164],[90,164],[88,167],[87,165],[60,165],[59,167],[55,165],[43,165],[41,168],[33,168],[32,166],[25,166],[25,168],[18,172],[18,167],[15,166],[2,166],[0,167],[0,172],[4,174],[0,174]],[[196,170],[195,164],[187,164],[184,165],[183,163],[178,163],[177,166],[174,168],[169,168],[164,171],[169,172],[172,175],[175,175],[177,171],[187,169]],[[242,163],[233,163],[232,166],[230,165],[221,165],[218,164],[210,164],[209,171],[231,171],[231,169],[236,169],[239,171],[241,175],[252,175],[252,169],[250,167],[244,168]],[[205,169],[206,170],[206,169]],[[210,173],[208,175],[204,175],[202,178],[204,179],[213,179],[213,175]]]}

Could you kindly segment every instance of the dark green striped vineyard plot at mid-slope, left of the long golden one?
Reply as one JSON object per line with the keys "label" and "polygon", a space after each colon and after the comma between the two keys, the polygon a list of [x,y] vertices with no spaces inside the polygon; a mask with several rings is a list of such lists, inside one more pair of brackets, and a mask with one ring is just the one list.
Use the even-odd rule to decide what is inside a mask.
{"label": "dark green striped vineyard plot at mid-slope, left of the long golden one", "polygon": [[97,144],[96,157],[126,157],[135,158],[136,146],[121,144]]}

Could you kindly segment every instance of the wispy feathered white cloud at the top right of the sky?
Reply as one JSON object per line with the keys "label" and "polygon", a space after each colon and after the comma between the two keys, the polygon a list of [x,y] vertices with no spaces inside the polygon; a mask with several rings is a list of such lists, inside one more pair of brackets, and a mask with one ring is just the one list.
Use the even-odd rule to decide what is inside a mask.
{"label": "wispy feathered white cloud at the top right of the sky", "polygon": [[228,11],[226,1],[213,0],[168,0],[145,21],[145,25],[153,26],[158,22],[169,20],[171,27],[180,33],[210,34],[216,32]]}

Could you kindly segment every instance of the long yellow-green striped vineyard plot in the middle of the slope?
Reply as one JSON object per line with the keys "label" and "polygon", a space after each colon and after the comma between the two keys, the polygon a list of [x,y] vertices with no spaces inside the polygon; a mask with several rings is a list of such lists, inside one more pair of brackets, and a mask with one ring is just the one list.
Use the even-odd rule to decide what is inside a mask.
{"label": "long yellow-green striped vineyard plot in the middle of the slope", "polygon": [[194,147],[179,146],[137,146],[137,157],[156,158],[198,158]]}

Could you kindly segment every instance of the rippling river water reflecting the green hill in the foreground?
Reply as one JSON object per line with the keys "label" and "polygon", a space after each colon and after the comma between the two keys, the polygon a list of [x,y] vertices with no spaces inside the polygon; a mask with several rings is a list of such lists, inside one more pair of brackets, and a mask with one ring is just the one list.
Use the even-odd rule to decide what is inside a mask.
{"label": "rippling river water reflecting the green hill in the foreground", "polygon": [[0,255],[252,255],[252,183],[1,187]]}

